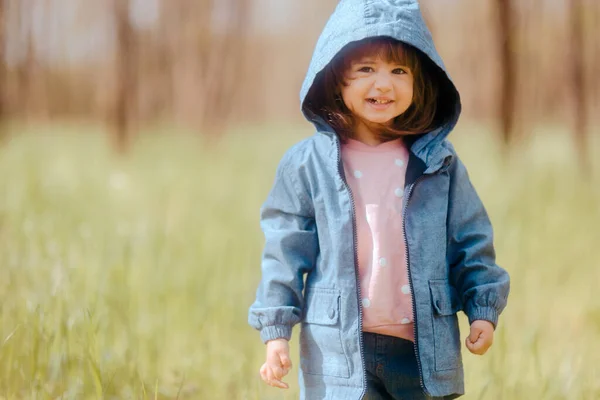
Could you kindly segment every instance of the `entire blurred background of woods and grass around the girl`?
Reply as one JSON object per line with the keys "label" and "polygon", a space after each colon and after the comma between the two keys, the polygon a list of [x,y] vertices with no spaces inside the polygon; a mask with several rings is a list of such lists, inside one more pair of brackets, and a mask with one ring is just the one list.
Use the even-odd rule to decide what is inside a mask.
{"label": "entire blurred background of woods and grass around the girl", "polygon": [[[0,399],[298,397],[246,319],[336,4],[0,0]],[[513,282],[465,398],[598,399],[600,2],[421,8]]]}

